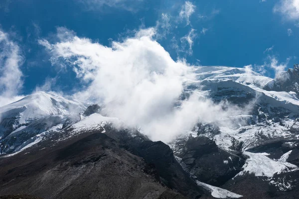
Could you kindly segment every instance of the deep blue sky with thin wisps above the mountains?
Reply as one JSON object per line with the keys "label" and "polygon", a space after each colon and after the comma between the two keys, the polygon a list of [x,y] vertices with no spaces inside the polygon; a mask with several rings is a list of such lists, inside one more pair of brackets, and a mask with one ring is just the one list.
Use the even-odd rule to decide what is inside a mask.
{"label": "deep blue sky with thin wisps above the mountains", "polygon": [[5,54],[5,42],[17,46],[19,55],[17,66],[12,66],[17,73],[8,70],[13,76],[9,81],[16,85],[2,83],[1,92],[7,98],[37,88],[71,94],[86,86],[73,68],[53,64],[49,50],[41,45],[43,40],[59,42],[59,28],[110,47],[112,41],[153,27],[154,40],[174,61],[252,65],[275,77],[276,67],[298,63],[298,22],[298,0],[1,0],[2,80],[10,66],[4,61],[12,52]]}

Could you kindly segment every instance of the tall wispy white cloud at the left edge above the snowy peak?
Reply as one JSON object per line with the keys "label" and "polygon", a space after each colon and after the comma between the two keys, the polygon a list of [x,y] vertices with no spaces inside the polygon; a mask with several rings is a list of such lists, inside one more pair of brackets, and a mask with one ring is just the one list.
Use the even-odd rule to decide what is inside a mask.
{"label": "tall wispy white cloud at the left edge above the snowy peak", "polygon": [[0,29],[0,106],[22,97],[17,96],[23,85],[22,63],[23,56],[18,45]]}

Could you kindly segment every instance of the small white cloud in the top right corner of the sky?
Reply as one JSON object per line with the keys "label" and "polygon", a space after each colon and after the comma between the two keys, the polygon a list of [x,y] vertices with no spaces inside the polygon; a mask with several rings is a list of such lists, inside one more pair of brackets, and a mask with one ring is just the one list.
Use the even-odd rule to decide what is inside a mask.
{"label": "small white cloud in the top right corner of the sky", "polygon": [[274,12],[281,13],[286,19],[299,19],[299,0],[280,0],[274,6]]}

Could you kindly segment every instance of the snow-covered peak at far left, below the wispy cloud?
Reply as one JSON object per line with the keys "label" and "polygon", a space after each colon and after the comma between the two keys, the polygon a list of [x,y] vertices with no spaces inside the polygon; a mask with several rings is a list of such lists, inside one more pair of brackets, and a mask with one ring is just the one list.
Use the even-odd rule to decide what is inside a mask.
{"label": "snow-covered peak at far left, below the wispy cloud", "polygon": [[80,117],[86,107],[78,100],[45,92],[0,107],[0,153],[15,152],[36,143],[41,134],[61,130],[66,120]]}

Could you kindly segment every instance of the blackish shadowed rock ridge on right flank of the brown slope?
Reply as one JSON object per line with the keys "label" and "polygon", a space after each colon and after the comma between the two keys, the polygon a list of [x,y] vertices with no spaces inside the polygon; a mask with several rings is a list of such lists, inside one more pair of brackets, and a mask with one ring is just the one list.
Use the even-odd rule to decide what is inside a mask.
{"label": "blackish shadowed rock ridge on right flank of the brown slope", "polygon": [[178,164],[173,151],[165,143],[152,142],[138,131],[108,130],[106,134],[114,137],[124,148],[152,165],[156,169],[157,180],[162,184],[189,198],[199,198],[204,193]]}

